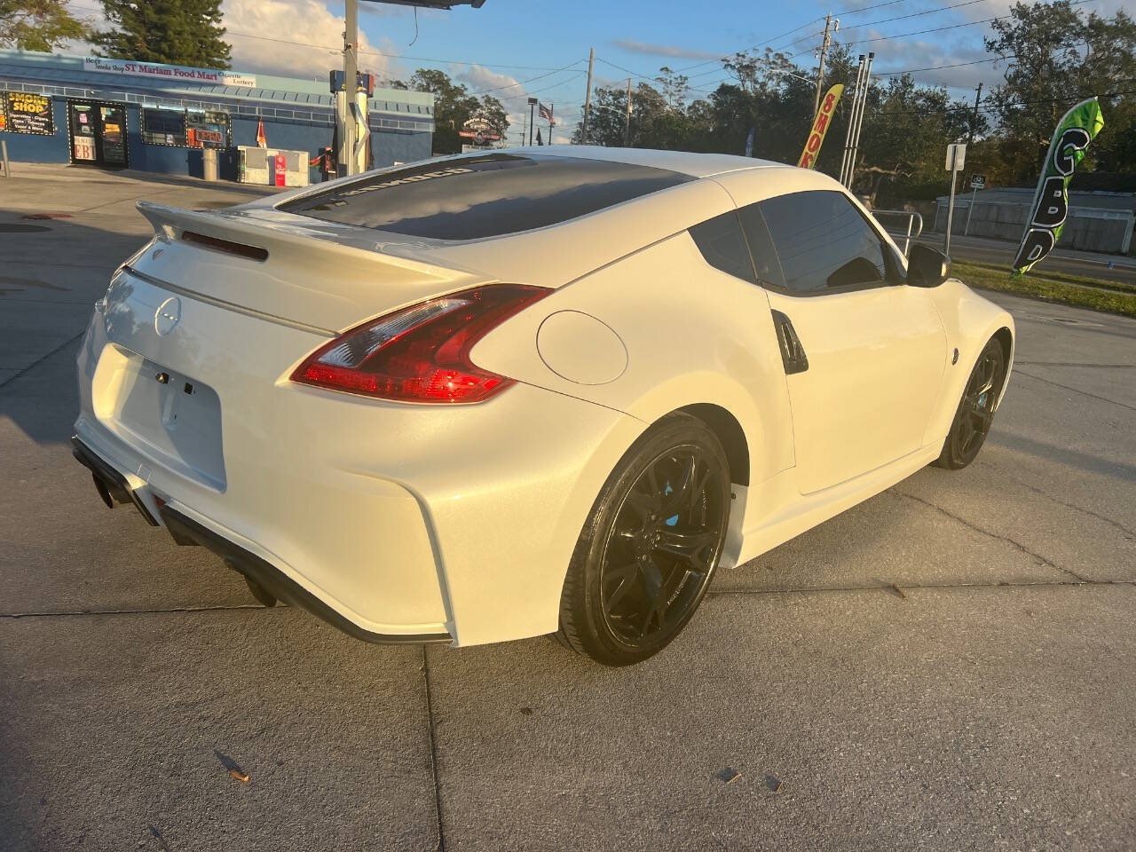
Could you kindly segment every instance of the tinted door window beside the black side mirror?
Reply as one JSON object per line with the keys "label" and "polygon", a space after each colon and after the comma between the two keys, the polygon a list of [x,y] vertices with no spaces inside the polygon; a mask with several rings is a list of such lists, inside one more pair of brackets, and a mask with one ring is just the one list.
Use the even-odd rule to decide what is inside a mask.
{"label": "tinted door window beside the black side mirror", "polygon": [[842,193],[795,192],[760,207],[791,291],[877,284],[887,277],[879,236]]}

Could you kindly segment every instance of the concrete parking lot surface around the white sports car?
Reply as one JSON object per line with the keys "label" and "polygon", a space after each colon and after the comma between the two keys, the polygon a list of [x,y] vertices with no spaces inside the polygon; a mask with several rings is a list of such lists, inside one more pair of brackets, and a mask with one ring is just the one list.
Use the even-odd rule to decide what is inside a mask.
{"label": "concrete parking lot surface around the white sports car", "polygon": [[1019,344],[977,462],[720,573],[644,665],[373,646],[256,605],[70,458],[134,202],[249,192],[23,174],[0,182],[0,849],[1136,846],[1136,321],[995,295]]}

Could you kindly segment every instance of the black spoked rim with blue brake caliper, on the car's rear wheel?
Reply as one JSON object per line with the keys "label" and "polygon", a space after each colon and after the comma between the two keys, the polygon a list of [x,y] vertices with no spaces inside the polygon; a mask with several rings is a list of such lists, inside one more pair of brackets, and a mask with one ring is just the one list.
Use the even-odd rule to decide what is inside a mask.
{"label": "black spoked rim with blue brake caliper, on the car's rear wheel", "polygon": [[722,491],[717,466],[693,444],[661,453],[632,485],[600,567],[603,618],[619,642],[650,645],[698,605],[724,538]]}

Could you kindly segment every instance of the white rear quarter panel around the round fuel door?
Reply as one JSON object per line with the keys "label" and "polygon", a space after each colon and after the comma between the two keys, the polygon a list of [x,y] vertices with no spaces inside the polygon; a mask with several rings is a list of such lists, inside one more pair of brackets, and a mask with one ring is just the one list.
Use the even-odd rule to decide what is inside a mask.
{"label": "white rear quarter panel around the round fuel door", "polygon": [[[587,314],[615,331],[627,351],[618,377],[578,384],[542,360],[540,326],[562,310]],[[709,266],[685,231],[561,287],[487,335],[471,354],[487,369],[644,424],[690,404],[720,406],[745,433],[751,483],[793,463],[785,374],[765,292]]]}

